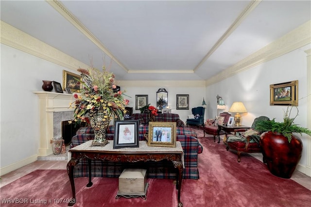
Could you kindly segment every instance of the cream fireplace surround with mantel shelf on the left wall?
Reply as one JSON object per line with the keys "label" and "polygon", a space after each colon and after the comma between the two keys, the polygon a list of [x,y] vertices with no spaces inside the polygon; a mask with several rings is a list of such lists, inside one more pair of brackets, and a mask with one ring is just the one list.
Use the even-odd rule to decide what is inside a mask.
{"label": "cream fireplace surround with mantel shelf on the left wall", "polygon": [[73,118],[73,109],[69,104],[75,99],[72,94],[53,92],[34,92],[39,97],[40,143],[38,156],[48,156],[53,153],[50,141],[55,136],[61,136],[61,121]]}

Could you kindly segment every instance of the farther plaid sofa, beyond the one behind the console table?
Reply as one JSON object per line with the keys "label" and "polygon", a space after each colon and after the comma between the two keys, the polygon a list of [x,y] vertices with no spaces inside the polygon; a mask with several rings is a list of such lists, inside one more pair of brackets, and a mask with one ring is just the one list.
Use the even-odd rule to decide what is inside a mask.
{"label": "farther plaid sofa, beyond the one behind the console table", "polygon": [[[133,113],[130,119],[139,120],[139,124],[148,125],[148,113]],[[159,113],[155,116],[155,122],[176,122],[177,127],[185,126],[177,113]]]}

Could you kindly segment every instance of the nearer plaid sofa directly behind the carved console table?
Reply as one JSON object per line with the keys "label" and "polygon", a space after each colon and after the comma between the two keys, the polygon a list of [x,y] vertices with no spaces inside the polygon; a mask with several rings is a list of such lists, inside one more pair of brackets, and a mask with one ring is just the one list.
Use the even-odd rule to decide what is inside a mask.
{"label": "nearer plaid sofa directly behind the carved console table", "polygon": [[[114,126],[109,126],[106,139],[113,140]],[[148,126],[138,127],[139,140],[146,140],[143,135],[148,133]],[[199,179],[198,154],[202,153],[203,147],[197,139],[195,132],[186,130],[184,127],[176,127],[176,140],[181,142],[184,150],[184,179]],[[72,137],[70,148],[75,147],[88,140],[94,139],[94,131],[91,127],[81,127]],[[140,165],[139,165],[140,164]],[[94,177],[119,177],[124,168],[147,168],[147,176],[150,178],[176,178],[176,169],[172,163],[166,160],[161,162],[146,163],[118,163],[102,160],[92,160],[92,176]],[[86,159],[74,167],[74,177],[87,177],[88,167]]]}

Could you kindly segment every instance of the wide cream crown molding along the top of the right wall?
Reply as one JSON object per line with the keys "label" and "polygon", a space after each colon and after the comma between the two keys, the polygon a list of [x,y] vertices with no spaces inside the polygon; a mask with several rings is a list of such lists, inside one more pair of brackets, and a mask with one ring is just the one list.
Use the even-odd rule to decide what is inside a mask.
{"label": "wide cream crown molding along the top of the right wall", "polygon": [[216,76],[206,80],[206,86],[225,80],[256,65],[270,61],[295,49],[311,44],[310,31],[311,21],[308,21],[293,31],[280,37],[275,42],[244,58],[237,64],[228,67]]}

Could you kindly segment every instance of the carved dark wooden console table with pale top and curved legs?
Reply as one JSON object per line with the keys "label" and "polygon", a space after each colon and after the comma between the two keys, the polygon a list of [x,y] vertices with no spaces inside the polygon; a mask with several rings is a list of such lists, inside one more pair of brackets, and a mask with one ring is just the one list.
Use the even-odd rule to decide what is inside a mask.
{"label": "carved dark wooden console table with pale top and curved legs", "polygon": [[86,143],[80,144],[69,149],[71,153],[71,159],[67,163],[67,173],[69,176],[71,190],[72,190],[72,202],[68,206],[73,206],[76,203],[76,193],[73,179],[73,169],[80,159],[86,158],[89,169],[89,180],[86,187],[91,187],[91,160],[101,159],[113,162],[138,162],[138,161],[161,161],[169,160],[173,162],[174,168],[178,170],[176,177],[176,188],[178,190],[178,207],[182,207],[183,203],[180,201],[180,190],[184,172],[184,155],[183,148],[180,142],[176,142],[175,147],[156,147],[148,146],[146,141],[139,141],[139,147],[134,148],[120,148],[113,149],[113,141],[109,140],[109,143],[104,147],[93,146],[90,147],[92,140]]}

